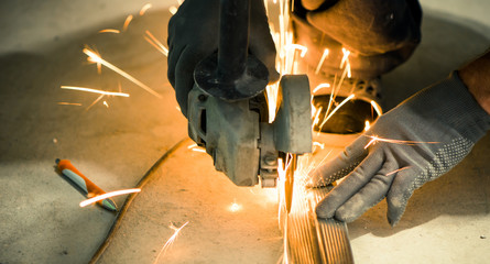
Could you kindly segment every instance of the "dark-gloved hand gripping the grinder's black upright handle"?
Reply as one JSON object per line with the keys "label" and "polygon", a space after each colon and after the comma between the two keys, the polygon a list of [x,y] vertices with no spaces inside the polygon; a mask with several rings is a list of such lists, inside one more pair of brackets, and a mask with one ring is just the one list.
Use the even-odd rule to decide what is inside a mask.
{"label": "dark-gloved hand gripping the grinder's black upright handle", "polygon": [[[268,67],[270,81],[277,80],[275,46],[263,0],[251,0],[249,29],[249,52]],[[167,75],[184,116],[187,116],[187,94],[194,86],[194,68],[217,51],[218,31],[219,0],[186,0],[168,22]]]}

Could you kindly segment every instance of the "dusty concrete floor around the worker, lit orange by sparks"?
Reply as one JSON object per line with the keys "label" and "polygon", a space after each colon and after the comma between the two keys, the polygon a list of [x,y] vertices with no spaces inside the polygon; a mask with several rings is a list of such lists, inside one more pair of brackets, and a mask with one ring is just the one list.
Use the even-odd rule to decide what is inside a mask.
{"label": "dusty concrete floor around the worker, lit orange by sparks", "polygon": [[[186,138],[186,120],[175,109],[173,89],[166,80],[166,58],[143,40],[149,30],[165,41],[171,15],[167,7],[176,1],[150,1],[153,8],[143,16],[137,15],[146,2],[0,3],[0,263],[87,263],[112,226],[115,215],[98,207],[78,207],[84,197],[54,172],[55,158],[72,160],[106,190],[131,188]],[[427,0],[422,4],[423,42],[406,64],[384,77],[386,108],[443,78],[490,44],[490,2]],[[121,29],[128,14],[134,14],[134,20],[127,32],[97,33]],[[84,45],[96,47],[104,58],[163,98],[107,68],[98,75],[96,67],[86,63]],[[61,90],[61,85],[107,90],[117,90],[120,85],[131,96],[105,98],[109,108],[98,102],[87,110],[97,96]],[[83,106],[57,105],[62,101]],[[489,151],[487,136],[448,175],[416,191],[396,228],[386,223],[383,202],[349,224],[357,263],[487,263]],[[139,237],[131,241],[123,239],[122,232],[119,246],[115,243],[116,250],[109,250],[102,261],[152,263],[162,241],[172,233],[168,222],[179,226],[190,221],[161,263],[275,263],[281,254],[280,233],[272,223],[275,204],[266,201],[263,207],[258,201],[269,197],[263,196],[264,190],[252,189],[252,194],[230,185],[213,172],[210,162],[207,156],[179,148],[161,166],[157,178],[163,182],[155,180],[149,186],[156,189],[141,195],[145,207],[137,202],[132,207],[138,213],[128,219],[126,230]],[[189,170],[184,170],[187,167]],[[168,170],[172,173],[164,173]],[[176,182],[198,177],[199,173],[209,180],[202,179],[197,186]],[[168,178],[171,175],[177,176]],[[197,189],[219,195],[206,196],[203,201],[195,198],[203,197],[193,193]],[[167,200],[162,202],[162,197]],[[122,205],[124,198],[116,198],[117,204]],[[226,211],[224,207],[232,198],[243,201],[246,208],[257,204],[262,208],[255,213],[244,213],[247,209],[243,213],[221,212],[220,221],[208,213]],[[193,222],[196,219],[208,229],[198,229],[199,222]],[[214,227],[214,222],[219,224]],[[151,232],[144,227],[159,228]],[[233,232],[233,227],[238,231]],[[243,246],[233,240],[238,235]],[[196,239],[203,243],[189,244]],[[215,258],[206,258],[206,252],[215,253]],[[110,258],[115,255],[119,258]]]}

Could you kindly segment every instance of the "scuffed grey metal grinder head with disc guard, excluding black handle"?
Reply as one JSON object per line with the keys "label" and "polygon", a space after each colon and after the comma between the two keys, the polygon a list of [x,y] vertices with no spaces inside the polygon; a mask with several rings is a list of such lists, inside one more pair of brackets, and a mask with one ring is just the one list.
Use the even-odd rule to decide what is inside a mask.
{"label": "scuffed grey metal grinder head with disc guard, excluding black handle", "polygon": [[[258,96],[260,97],[260,96]],[[215,167],[238,186],[274,187],[277,158],[312,152],[311,94],[305,75],[283,76],[275,120],[264,117],[258,97],[227,101],[196,84],[189,92],[189,136],[213,157]]]}

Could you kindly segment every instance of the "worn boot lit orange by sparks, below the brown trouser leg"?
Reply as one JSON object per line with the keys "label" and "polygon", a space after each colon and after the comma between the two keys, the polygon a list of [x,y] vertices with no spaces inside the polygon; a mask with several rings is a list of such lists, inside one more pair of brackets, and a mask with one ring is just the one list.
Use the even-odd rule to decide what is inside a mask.
{"label": "worn boot lit orange by sparks, below the brown trouser leg", "polygon": [[[390,54],[362,56],[350,52],[312,26],[301,14],[293,12],[291,16],[294,42],[308,48],[305,57],[298,61],[298,72],[306,73],[309,78],[315,108],[314,132],[363,132],[381,113],[380,74],[399,65],[402,58],[399,62]],[[350,99],[342,103],[347,98]],[[340,103],[342,106],[337,108]]]}

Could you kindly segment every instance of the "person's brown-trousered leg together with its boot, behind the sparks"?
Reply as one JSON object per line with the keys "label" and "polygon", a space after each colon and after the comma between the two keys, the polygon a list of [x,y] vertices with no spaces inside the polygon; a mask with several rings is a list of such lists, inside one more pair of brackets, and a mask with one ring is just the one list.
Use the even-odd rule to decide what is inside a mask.
{"label": "person's brown-trousered leg together with its boot, behind the sparks", "polygon": [[[360,133],[378,114],[380,76],[404,63],[421,41],[422,10],[417,0],[294,0],[295,43],[308,48],[301,72],[308,74],[313,105],[326,133]],[[325,48],[329,53],[323,58]],[[349,52],[348,62],[344,62]],[[342,64],[342,66],[341,66]],[[351,76],[348,76],[347,67]],[[333,94],[333,95],[331,95]],[[335,106],[355,96],[331,114]],[[328,117],[328,118],[327,118]],[[328,121],[327,121],[328,120]]]}

